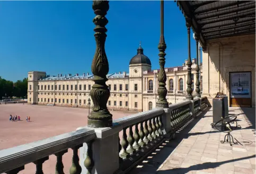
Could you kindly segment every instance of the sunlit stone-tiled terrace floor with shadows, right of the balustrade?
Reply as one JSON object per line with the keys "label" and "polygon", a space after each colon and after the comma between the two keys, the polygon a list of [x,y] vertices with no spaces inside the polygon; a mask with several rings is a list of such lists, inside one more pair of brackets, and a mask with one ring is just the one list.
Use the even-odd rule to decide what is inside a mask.
{"label": "sunlit stone-tiled terrace floor with shadows, right of the balustrade", "polygon": [[241,128],[231,134],[242,145],[231,147],[229,143],[220,143],[226,133],[211,128],[213,110],[208,108],[176,133],[174,140],[165,141],[130,174],[255,174],[255,109],[229,108],[229,115],[234,114]]}

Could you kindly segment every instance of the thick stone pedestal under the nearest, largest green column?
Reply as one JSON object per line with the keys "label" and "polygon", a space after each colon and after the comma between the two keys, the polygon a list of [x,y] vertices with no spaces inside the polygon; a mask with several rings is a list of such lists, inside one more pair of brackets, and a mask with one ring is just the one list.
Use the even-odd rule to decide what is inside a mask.
{"label": "thick stone pedestal under the nearest, largest green column", "polygon": [[[80,127],[79,129],[92,129],[96,133],[96,139],[92,142],[92,156],[94,166],[92,174],[113,174],[119,169],[119,132],[121,128],[89,128]],[[83,144],[80,148],[80,166],[82,173],[87,173],[84,167],[86,159],[87,145]]]}

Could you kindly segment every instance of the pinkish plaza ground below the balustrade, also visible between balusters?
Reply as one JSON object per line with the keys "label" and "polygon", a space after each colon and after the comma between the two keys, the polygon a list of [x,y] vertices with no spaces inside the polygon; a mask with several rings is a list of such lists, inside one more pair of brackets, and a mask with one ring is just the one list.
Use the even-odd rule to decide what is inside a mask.
{"label": "pinkish plaza ground below the balustrade, also visible between balusters", "polygon": [[[46,139],[62,133],[75,131],[76,128],[87,124],[89,110],[84,108],[47,107],[45,105],[29,104],[2,104],[0,105],[0,150],[21,144]],[[112,111],[113,119],[134,114],[129,111]],[[19,115],[22,121],[9,122],[9,116]],[[31,122],[25,120],[31,118]],[[64,172],[69,173],[72,165],[71,149],[63,156]],[[43,163],[45,173],[55,173],[56,157],[51,155],[49,160]],[[29,163],[25,170],[19,174],[35,173],[36,165]]]}

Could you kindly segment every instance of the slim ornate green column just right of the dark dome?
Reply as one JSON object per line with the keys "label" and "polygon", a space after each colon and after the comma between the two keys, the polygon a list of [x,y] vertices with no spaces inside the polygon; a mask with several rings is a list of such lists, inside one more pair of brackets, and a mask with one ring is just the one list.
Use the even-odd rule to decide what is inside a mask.
{"label": "slim ornate green column just right of the dark dome", "polygon": [[164,65],[165,65],[165,49],[166,49],[166,44],[164,41],[164,1],[161,1],[161,34],[160,34],[160,41],[158,44],[158,50],[160,53],[158,54],[159,56],[159,64],[160,64],[160,71],[158,73],[158,101],[156,102],[156,107],[158,108],[169,108],[169,104],[166,100],[166,95],[167,95],[167,89],[165,87],[166,85],[166,73],[164,71]]}

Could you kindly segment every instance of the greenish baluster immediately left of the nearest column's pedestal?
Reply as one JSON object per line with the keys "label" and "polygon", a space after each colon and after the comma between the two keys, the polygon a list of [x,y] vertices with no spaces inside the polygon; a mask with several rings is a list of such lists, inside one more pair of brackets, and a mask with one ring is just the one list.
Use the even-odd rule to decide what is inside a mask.
{"label": "greenish baluster immediately left of the nearest column's pedestal", "polygon": [[72,166],[69,168],[70,174],[78,174],[82,172],[82,168],[79,165],[79,157],[78,157],[78,149],[81,148],[82,146],[83,144],[80,144],[72,148],[73,157],[72,157]]}

